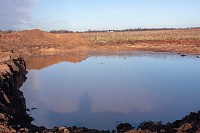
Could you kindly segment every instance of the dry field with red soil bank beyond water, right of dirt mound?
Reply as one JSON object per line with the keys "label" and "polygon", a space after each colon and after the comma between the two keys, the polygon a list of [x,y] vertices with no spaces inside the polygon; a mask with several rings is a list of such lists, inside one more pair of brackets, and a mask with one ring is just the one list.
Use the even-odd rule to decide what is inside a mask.
{"label": "dry field with red soil bank beyond water, right of dirt mound", "polygon": [[83,33],[94,49],[200,54],[200,29]]}

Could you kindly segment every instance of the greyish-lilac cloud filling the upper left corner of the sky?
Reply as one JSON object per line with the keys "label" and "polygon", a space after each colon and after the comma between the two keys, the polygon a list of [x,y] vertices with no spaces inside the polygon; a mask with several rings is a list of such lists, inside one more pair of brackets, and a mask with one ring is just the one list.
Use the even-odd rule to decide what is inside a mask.
{"label": "greyish-lilac cloud filling the upper left corner of the sky", "polygon": [[18,30],[18,25],[31,21],[31,8],[37,0],[1,0],[0,29]]}

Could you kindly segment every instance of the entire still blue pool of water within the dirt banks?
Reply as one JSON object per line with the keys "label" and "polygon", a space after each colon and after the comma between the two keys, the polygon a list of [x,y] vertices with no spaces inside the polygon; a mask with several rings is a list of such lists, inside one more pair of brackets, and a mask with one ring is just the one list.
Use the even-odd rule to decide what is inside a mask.
{"label": "entire still blue pool of water within the dirt banks", "polygon": [[37,108],[29,112],[34,124],[106,130],[121,122],[172,122],[200,109],[200,59],[193,56],[129,54],[56,63],[30,68],[22,87],[27,108]]}

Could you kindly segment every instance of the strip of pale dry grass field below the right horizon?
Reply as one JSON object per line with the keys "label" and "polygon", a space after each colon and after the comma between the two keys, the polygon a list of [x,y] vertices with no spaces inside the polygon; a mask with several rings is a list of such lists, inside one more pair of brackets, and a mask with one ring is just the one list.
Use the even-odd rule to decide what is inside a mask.
{"label": "strip of pale dry grass field below the right horizon", "polygon": [[95,43],[155,40],[200,40],[200,29],[84,33]]}

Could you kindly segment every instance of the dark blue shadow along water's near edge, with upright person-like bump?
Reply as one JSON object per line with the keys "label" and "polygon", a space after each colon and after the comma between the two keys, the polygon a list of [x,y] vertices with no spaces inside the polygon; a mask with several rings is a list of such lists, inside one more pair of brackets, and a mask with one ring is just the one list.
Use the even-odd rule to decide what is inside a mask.
{"label": "dark blue shadow along water's near edge, with upright person-like bump", "polygon": [[[43,110],[40,108],[39,112],[43,112],[45,113],[45,115],[43,115],[42,113],[38,113],[37,115],[39,116],[37,116],[37,122],[35,124],[37,125],[37,123],[42,123],[41,125],[47,128],[52,128],[54,126],[68,126],[68,127],[77,126],[77,127],[87,127],[98,130],[113,130],[120,123],[130,123],[132,126],[137,127],[143,121],[150,121],[150,120],[160,121],[160,119],[166,119],[169,117],[165,113],[158,113],[158,112],[141,112],[141,111],[133,111],[130,113],[123,113],[123,112],[120,113],[113,111],[94,112],[92,110],[92,104],[93,104],[92,98],[90,97],[89,93],[85,92],[79,98],[77,111],[70,113],[60,113],[52,110]],[[68,105],[62,105],[62,106],[68,106]],[[34,113],[37,113],[38,109],[33,111]],[[33,111],[31,111],[31,113]],[[187,113],[184,114],[180,112],[179,117],[177,117],[172,113],[170,117],[171,119],[179,119],[186,114]],[[164,123],[172,121],[164,121]]]}

